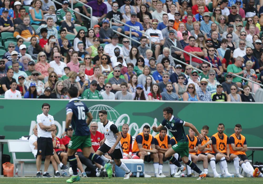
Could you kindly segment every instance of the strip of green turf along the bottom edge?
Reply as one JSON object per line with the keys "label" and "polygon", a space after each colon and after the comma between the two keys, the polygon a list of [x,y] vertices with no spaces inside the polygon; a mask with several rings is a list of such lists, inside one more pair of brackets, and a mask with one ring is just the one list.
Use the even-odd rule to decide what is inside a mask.
{"label": "strip of green turf along the bottom edge", "polygon": [[[25,183],[25,184],[40,184],[40,183],[66,183],[66,180],[69,177],[61,177],[61,178],[35,178],[35,177],[26,177],[26,178],[0,178],[0,183],[7,183],[7,184],[18,184],[18,183]],[[263,183],[263,178],[206,178],[204,180],[196,180],[195,178],[130,178],[129,180],[123,180],[123,178],[81,178],[80,181],[74,182],[76,184],[80,183],[138,183],[138,184],[167,184],[167,183],[201,183],[201,184],[228,184],[228,183],[238,183],[238,184],[260,184]]]}

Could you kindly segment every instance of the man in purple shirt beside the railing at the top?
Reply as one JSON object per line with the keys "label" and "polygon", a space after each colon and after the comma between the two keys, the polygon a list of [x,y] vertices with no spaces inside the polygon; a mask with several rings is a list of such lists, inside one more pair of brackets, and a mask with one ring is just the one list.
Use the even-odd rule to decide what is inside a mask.
{"label": "man in purple shirt beside the railing at the top", "polygon": [[[103,3],[102,0],[88,1],[88,3],[86,4],[92,8],[92,17],[91,17],[92,25],[101,23],[102,19],[106,17],[107,14],[107,5]],[[83,5],[82,8],[86,16],[90,17],[91,14],[88,13],[87,7]]]}

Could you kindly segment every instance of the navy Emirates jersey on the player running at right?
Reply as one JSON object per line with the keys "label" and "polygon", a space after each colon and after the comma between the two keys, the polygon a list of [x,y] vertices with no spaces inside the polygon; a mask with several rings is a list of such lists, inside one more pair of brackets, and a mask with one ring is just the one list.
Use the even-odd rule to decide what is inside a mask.
{"label": "navy Emirates jersey on the player running at right", "polygon": [[161,125],[167,127],[167,129],[175,137],[177,142],[180,141],[188,142],[188,138],[185,135],[185,130],[183,129],[183,125],[185,125],[185,121],[174,116],[172,116],[171,119],[172,121],[164,119]]}

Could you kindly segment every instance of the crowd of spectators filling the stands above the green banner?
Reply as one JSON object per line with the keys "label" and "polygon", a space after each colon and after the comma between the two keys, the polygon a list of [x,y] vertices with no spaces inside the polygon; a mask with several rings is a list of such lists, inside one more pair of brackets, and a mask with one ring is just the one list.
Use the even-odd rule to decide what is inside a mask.
{"label": "crowd of spectators filling the stands above the green banner", "polygon": [[[91,17],[89,29],[90,21],[68,9],[71,1],[60,2],[0,1],[4,98],[68,99],[73,85],[81,99],[255,101],[263,1],[82,0],[91,17],[73,0],[76,12]],[[190,65],[179,49],[207,62],[192,57]]]}

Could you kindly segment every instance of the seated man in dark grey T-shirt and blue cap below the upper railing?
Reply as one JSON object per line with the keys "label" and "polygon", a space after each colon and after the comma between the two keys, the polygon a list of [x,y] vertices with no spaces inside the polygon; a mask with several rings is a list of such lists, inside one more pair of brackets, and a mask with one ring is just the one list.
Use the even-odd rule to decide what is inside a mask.
{"label": "seated man in dark grey T-shirt and blue cap below the upper railing", "polygon": [[100,29],[100,43],[111,43],[111,37],[114,34],[113,29],[109,27],[109,21],[107,19],[102,21],[102,28]]}

